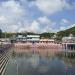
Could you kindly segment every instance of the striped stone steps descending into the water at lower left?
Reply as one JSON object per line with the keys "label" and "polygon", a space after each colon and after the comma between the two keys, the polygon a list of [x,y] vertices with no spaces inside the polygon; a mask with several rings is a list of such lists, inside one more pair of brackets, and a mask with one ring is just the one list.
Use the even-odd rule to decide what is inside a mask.
{"label": "striped stone steps descending into the water at lower left", "polygon": [[7,64],[9,62],[9,50],[4,50],[3,53],[0,54],[0,75],[4,75]]}

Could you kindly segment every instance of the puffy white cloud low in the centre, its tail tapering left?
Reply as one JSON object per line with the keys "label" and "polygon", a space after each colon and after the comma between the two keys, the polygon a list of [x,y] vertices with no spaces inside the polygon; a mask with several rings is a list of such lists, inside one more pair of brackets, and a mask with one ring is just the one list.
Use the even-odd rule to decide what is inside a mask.
{"label": "puffy white cloud low in the centre, its tail tapering left", "polygon": [[50,20],[47,16],[39,17],[33,20],[30,24],[20,28],[20,32],[31,31],[36,33],[52,32],[52,26],[56,23]]}

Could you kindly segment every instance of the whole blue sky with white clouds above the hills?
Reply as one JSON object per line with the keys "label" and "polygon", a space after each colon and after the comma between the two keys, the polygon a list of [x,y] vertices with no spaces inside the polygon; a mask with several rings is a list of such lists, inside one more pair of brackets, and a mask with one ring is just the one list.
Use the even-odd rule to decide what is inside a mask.
{"label": "whole blue sky with white clouds above the hills", "polygon": [[0,0],[3,32],[57,32],[75,26],[75,0]]}

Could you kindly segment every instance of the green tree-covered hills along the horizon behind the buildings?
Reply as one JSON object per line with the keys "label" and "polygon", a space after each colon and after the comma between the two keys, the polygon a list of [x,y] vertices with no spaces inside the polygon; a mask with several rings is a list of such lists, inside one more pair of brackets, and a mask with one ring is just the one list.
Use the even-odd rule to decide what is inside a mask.
{"label": "green tree-covered hills along the horizon behind the buildings", "polygon": [[[2,33],[1,34],[1,37],[2,38],[5,38],[5,34],[6,34],[6,37],[7,38],[10,38],[12,37],[13,35],[19,35],[19,34],[22,34],[22,35],[36,35],[38,33],[33,33],[33,32],[22,32],[22,33]],[[56,39],[57,40],[61,40],[62,37],[65,37],[65,36],[69,36],[70,34],[73,34],[73,36],[75,36],[75,26],[72,27],[72,28],[69,28],[69,29],[66,29],[66,30],[63,30],[63,31],[59,31],[56,33],[51,33],[51,32],[44,32],[44,33],[41,33],[39,34],[40,35],[40,38],[52,38],[54,35],[56,35]]]}

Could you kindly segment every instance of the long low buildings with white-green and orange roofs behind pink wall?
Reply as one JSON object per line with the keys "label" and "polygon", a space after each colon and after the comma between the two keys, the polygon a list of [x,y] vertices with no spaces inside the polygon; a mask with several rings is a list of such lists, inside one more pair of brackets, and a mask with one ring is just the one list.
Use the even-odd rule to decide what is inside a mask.
{"label": "long low buildings with white-green and orange roofs behind pink wall", "polygon": [[40,35],[18,35],[13,39],[13,41],[21,42],[21,43],[55,43],[54,39],[40,39]]}

